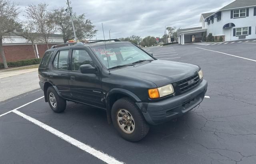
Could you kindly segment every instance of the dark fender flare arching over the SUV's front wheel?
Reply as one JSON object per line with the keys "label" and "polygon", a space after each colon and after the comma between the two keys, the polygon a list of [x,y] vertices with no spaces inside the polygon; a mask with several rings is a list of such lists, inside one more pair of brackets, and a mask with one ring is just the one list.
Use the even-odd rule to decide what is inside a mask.
{"label": "dark fender flare arching over the SUV's front wheel", "polygon": [[108,119],[108,123],[112,123],[112,119],[111,119],[111,107],[110,107],[110,97],[113,94],[116,93],[120,93],[123,95],[126,95],[128,97],[130,97],[131,99],[133,99],[135,102],[141,102],[140,98],[138,96],[136,96],[134,93],[132,93],[131,91],[128,91],[126,89],[122,89],[122,88],[113,88],[110,91],[108,91],[108,93],[106,94],[106,112],[107,112],[107,119]]}

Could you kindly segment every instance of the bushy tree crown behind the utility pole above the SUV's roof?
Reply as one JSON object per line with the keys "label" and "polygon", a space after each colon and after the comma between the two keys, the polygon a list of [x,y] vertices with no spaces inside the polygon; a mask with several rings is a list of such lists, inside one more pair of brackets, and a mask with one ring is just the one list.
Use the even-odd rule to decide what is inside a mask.
{"label": "bushy tree crown behind the utility pole above the SUV's roof", "polygon": [[[86,40],[95,36],[98,30],[95,30],[91,20],[85,18],[85,14],[77,16],[74,13],[72,17],[78,40]],[[57,26],[57,30],[62,33],[64,43],[75,38],[70,14],[67,14],[64,8],[55,9],[50,14],[50,19]]]}

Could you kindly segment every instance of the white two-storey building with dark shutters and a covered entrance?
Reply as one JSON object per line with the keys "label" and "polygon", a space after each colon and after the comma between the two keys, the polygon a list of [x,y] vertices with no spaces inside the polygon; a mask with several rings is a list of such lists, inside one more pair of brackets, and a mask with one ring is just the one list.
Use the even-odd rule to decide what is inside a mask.
{"label": "white two-storey building with dark shutters and a covered entrance", "polygon": [[220,10],[201,14],[202,27],[178,31],[179,43],[202,40],[202,33],[212,33],[223,41],[256,38],[256,0],[235,0]]}

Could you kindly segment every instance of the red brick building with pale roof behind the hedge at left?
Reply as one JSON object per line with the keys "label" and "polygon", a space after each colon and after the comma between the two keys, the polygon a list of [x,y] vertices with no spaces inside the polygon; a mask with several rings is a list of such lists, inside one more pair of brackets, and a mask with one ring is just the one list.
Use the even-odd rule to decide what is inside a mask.
{"label": "red brick building with pale roof behind the hedge at left", "polygon": [[[25,38],[22,38],[16,34],[9,34],[10,36],[5,37],[3,41],[4,54],[6,61],[18,61],[33,58],[41,58],[47,49],[45,43],[36,42],[34,43],[37,56],[34,54],[33,47]],[[51,43],[48,46],[51,47],[55,44],[64,43],[61,34],[52,34],[50,36]],[[0,62],[2,63],[2,58],[0,56]]]}

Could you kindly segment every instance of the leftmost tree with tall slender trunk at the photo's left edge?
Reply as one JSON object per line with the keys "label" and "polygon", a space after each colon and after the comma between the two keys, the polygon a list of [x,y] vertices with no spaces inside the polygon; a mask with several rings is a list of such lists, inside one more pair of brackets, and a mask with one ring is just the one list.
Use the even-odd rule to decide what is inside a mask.
{"label": "leftmost tree with tall slender trunk at the photo's left edge", "polygon": [[0,53],[4,63],[4,68],[8,68],[4,55],[3,39],[8,33],[20,28],[18,23],[17,5],[9,0],[0,0]]}

